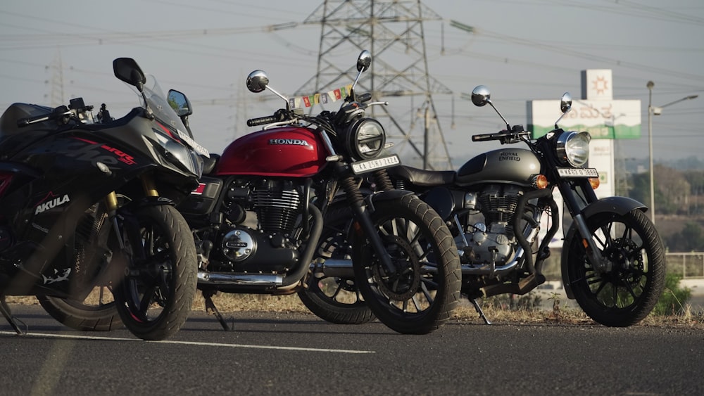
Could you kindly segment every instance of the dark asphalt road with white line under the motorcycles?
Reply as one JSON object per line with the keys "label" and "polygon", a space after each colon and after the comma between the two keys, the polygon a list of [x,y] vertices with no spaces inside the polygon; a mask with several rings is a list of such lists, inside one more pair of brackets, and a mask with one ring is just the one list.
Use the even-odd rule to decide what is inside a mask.
{"label": "dark asphalt road with white line under the motorcycles", "polygon": [[379,322],[194,312],[172,339],[68,331],[37,305],[0,317],[0,395],[704,395],[704,331],[451,321],[426,336]]}

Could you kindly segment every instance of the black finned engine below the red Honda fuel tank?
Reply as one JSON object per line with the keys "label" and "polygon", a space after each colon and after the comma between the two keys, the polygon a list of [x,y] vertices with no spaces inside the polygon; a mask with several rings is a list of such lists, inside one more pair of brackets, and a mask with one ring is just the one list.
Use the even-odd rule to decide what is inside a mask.
{"label": "black finned engine below the red Honda fuel tank", "polygon": [[282,272],[298,262],[292,233],[301,198],[291,181],[230,186],[227,219],[218,231],[208,269],[217,272]]}

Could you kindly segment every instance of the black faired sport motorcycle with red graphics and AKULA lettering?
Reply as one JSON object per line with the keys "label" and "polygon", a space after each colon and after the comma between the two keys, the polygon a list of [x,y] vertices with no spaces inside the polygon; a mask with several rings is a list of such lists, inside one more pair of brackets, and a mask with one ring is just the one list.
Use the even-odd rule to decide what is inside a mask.
{"label": "black faired sport motorcycle with red graphics and AKULA lettering", "polygon": [[131,58],[115,77],[144,103],[99,122],[82,98],[48,108],[14,103],[0,117],[0,311],[6,295],[35,295],[79,330],[124,324],[162,340],[186,321],[196,250],[175,203],[198,186],[201,146],[153,79]]}

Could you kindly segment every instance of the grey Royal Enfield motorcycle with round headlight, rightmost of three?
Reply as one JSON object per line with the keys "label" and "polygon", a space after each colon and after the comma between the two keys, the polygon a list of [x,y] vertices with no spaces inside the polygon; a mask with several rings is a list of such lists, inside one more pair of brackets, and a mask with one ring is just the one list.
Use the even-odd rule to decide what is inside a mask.
{"label": "grey Royal Enfield motorcycle with round headlight, rightmost of three", "polygon": [[[496,110],[484,86],[472,91],[472,102]],[[558,122],[571,106],[570,95],[562,96]],[[508,122],[501,132],[474,135],[472,141],[524,143],[528,148],[482,153],[456,172],[405,166],[387,172],[396,188],[417,193],[450,227],[460,250],[462,293],[486,324],[477,298],[522,295],[545,281],[543,263],[561,221],[553,198],[558,191],[565,206],[561,272],[567,297],[600,324],[631,326],[650,313],[662,293],[665,249],[643,204],[624,197],[597,198],[598,172],[584,167],[591,136],[564,131],[558,122],[534,140],[521,125]],[[299,295],[322,319],[363,323],[373,314],[351,282],[349,211],[344,203],[333,207],[320,250],[328,252],[328,262],[336,263],[338,272],[320,276]]]}

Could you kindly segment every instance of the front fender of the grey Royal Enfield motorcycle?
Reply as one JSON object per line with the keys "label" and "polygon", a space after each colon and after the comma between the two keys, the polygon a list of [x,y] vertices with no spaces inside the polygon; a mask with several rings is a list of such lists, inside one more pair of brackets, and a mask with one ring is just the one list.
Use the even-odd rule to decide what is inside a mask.
{"label": "front fender of the grey Royal Enfield motorcycle", "polygon": [[[646,212],[648,207],[637,200],[627,197],[607,197],[586,205],[586,207],[582,209],[581,214],[586,222],[590,217],[598,215],[599,213],[615,213],[622,216],[634,209],[639,209]],[[577,227],[574,225],[574,222],[572,222],[572,226],[570,226],[570,229],[565,234],[565,242],[562,243],[562,257],[560,257],[562,285],[565,288],[567,298],[571,299],[574,299],[574,293],[572,293],[572,286],[570,285],[569,279],[567,279],[567,266],[570,265],[570,252],[569,249],[567,249],[567,246],[570,246],[573,238],[578,237],[579,233],[577,232]]]}

